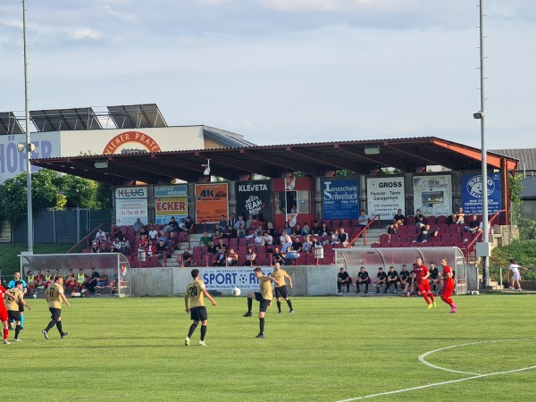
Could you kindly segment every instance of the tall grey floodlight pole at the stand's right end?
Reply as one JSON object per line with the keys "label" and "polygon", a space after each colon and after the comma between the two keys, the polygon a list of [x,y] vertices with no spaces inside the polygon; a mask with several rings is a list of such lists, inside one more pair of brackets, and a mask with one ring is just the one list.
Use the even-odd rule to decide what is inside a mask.
{"label": "tall grey floodlight pole at the stand's right end", "polygon": [[[486,152],[486,109],[484,94],[484,0],[480,0],[480,71],[481,71],[481,137],[482,137],[482,241],[488,244],[488,161]],[[489,249],[489,248],[487,248]],[[490,286],[490,258],[482,257],[482,285]]]}

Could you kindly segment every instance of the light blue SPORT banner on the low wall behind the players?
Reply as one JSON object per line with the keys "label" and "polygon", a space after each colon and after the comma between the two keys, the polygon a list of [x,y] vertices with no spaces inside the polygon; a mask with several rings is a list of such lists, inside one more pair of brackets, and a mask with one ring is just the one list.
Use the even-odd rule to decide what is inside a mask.
{"label": "light blue SPORT banner on the low wall behind the players", "polygon": [[[205,282],[207,290],[239,288],[244,294],[246,290],[260,288],[253,268],[201,268],[199,271],[199,277]],[[272,268],[263,268],[264,275],[268,275],[270,272],[272,272]]]}

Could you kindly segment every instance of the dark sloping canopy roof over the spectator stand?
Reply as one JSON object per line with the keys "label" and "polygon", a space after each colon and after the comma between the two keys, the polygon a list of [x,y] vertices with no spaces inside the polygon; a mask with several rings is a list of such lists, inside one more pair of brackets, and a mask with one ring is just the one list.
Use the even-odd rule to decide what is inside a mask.
{"label": "dark sloping canopy roof over the spectator stand", "polygon": [[[32,159],[35,166],[69,173],[115,186],[144,182],[169,183],[173,179],[197,182],[207,159],[211,175],[240,180],[251,173],[277,178],[288,172],[322,177],[346,169],[358,174],[395,168],[402,172],[426,172],[440,165],[452,171],[481,168],[478,148],[436,137],[395,138],[288,144],[257,147],[198,149],[130,155],[91,155]],[[490,169],[512,171],[517,160],[488,153]]]}

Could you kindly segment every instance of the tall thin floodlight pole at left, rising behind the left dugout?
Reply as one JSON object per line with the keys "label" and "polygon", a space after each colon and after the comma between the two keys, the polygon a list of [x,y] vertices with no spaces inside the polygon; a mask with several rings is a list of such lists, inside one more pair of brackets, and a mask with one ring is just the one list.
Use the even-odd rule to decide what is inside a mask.
{"label": "tall thin floodlight pole at left, rising behind the left dugout", "polygon": [[33,208],[31,205],[31,140],[29,135],[29,96],[28,96],[28,42],[26,39],[26,0],[22,0],[22,32],[24,38],[24,111],[26,113],[26,188],[28,213],[28,253],[33,254]]}

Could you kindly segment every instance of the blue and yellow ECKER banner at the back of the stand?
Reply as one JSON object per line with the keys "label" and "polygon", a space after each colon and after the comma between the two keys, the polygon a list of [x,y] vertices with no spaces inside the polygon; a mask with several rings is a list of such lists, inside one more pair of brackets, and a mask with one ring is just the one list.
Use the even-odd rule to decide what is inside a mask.
{"label": "blue and yellow ECKER banner at the back of the stand", "polygon": [[166,224],[175,217],[188,216],[188,194],[186,185],[155,186],[155,223]]}

